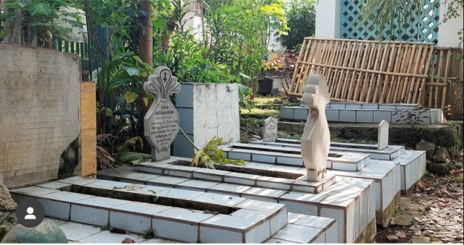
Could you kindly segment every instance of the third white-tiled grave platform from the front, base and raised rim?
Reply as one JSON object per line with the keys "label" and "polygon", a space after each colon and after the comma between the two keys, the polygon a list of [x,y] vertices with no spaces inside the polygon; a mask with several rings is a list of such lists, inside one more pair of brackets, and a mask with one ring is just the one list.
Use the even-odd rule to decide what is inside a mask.
{"label": "third white-tiled grave platform from the front, base and raised rim", "polygon": [[[285,140],[280,139],[280,141]],[[293,166],[301,167],[301,169],[299,169],[301,174],[306,173],[303,159],[301,159],[301,149],[299,149],[299,145],[278,142],[261,142],[262,144],[259,142],[253,143],[254,144],[228,144],[223,146],[223,150],[229,159],[248,157],[249,154],[249,159],[256,162],[263,159],[263,156],[266,156],[266,154],[276,156],[276,159],[278,159],[281,154],[289,154],[289,152],[291,152],[294,158],[300,160],[298,165],[293,164]],[[271,146],[266,144],[270,144]],[[357,150],[358,149],[359,148],[357,148]],[[400,146],[394,147],[393,152],[398,153],[400,149],[403,148]],[[258,157],[254,157],[256,151],[258,151]],[[237,156],[237,152],[241,155]],[[388,151],[385,151],[385,153],[388,154],[388,156],[391,156],[391,152],[389,153]],[[358,152],[329,151],[329,157],[326,165],[328,169],[327,174],[331,176],[345,176],[373,180],[375,183],[375,213],[377,217],[377,224],[387,226],[390,216],[393,214],[393,211],[398,205],[398,201],[400,199],[400,184],[403,183],[401,180],[401,176],[403,175],[400,174],[402,167],[400,166],[400,161],[370,160],[370,157],[368,156],[368,154],[360,154]],[[333,161],[334,158],[338,160]],[[407,161],[407,158],[402,161]],[[361,162],[362,164],[360,164]],[[282,164],[282,162],[277,160],[274,162],[268,161],[267,163],[276,165]],[[296,160],[294,160],[293,163],[296,163]],[[419,165],[418,161],[410,161],[408,164],[404,165],[408,166],[411,163],[412,165]],[[408,180],[415,176],[416,174],[413,174],[413,176],[410,176]],[[408,184],[413,183],[412,181],[409,181]]]}

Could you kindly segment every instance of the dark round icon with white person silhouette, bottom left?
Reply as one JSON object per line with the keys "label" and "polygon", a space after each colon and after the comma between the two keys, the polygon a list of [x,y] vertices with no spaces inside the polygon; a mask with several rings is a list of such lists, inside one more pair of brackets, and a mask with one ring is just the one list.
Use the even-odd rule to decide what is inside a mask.
{"label": "dark round icon with white person silhouette, bottom left", "polygon": [[44,217],[44,206],[34,199],[21,201],[16,208],[18,223],[29,228],[41,224]]}

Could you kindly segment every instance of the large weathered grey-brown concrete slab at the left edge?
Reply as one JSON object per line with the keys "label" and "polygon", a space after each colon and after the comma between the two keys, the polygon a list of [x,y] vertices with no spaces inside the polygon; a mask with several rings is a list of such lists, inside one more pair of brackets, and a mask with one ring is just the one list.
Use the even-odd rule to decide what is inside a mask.
{"label": "large weathered grey-brown concrete slab at the left edge", "polygon": [[79,57],[0,44],[0,173],[9,188],[58,176],[79,135]]}

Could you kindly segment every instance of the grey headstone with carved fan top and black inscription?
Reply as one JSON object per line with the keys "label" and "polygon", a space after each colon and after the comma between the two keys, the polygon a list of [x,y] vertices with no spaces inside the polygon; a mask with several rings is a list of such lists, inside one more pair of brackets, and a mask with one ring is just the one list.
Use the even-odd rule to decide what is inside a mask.
{"label": "grey headstone with carved fan top and black inscription", "polygon": [[151,145],[151,160],[169,159],[171,144],[179,131],[179,114],[169,97],[180,91],[181,85],[168,67],[159,66],[143,84],[143,90],[155,96],[143,118],[144,134]]}

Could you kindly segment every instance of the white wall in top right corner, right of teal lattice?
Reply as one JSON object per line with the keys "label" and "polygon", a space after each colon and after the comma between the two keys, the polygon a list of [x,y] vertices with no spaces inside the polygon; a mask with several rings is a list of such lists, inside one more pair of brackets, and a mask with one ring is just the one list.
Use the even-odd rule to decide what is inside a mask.
{"label": "white wall in top right corner, right of teal lattice", "polygon": [[[440,26],[438,30],[438,44],[437,46],[445,47],[458,47],[459,35],[458,31],[463,29],[463,7],[458,9],[460,16],[458,18],[449,19],[443,23],[443,18],[448,11],[448,3],[440,4]],[[462,44],[461,44],[461,47]]]}

